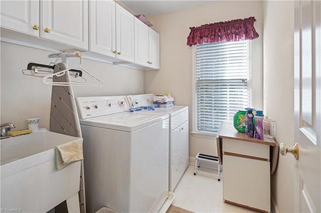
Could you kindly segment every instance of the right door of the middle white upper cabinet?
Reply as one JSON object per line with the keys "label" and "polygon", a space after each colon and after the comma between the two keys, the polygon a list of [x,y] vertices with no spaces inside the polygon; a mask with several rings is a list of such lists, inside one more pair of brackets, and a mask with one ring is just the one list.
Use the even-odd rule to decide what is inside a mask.
{"label": "right door of the middle white upper cabinet", "polygon": [[116,57],[134,62],[134,16],[116,3]]}

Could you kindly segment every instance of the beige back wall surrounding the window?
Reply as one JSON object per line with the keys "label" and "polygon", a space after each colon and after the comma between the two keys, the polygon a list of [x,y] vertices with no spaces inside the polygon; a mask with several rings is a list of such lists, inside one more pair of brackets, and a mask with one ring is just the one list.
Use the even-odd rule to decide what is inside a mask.
{"label": "beige back wall surrounding the window", "polygon": [[[233,5],[233,6],[232,6]],[[161,34],[161,68],[144,72],[144,92],[162,94],[170,92],[176,105],[188,105],[190,131],[192,130],[192,47],[188,46],[187,36],[190,26],[255,16],[254,26],[259,33],[253,44],[253,78],[263,83],[262,43],[263,9],[262,1],[209,1],[207,4],[167,14],[148,17],[152,28]],[[256,90],[262,96],[263,91]],[[262,100],[253,102],[253,107],[263,108]],[[190,135],[190,157],[198,152],[217,155],[216,140]]]}

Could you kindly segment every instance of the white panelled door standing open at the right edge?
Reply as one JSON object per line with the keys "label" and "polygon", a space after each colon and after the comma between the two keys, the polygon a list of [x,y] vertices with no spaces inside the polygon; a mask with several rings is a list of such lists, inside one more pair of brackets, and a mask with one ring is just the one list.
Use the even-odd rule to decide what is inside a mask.
{"label": "white panelled door standing open at the right edge", "polygon": [[321,1],[295,1],[295,211],[321,212]]}

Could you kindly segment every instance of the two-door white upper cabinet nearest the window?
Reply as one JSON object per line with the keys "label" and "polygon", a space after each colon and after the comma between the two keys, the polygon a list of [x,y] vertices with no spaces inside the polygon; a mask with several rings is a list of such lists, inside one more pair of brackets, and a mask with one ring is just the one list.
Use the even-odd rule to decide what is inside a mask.
{"label": "two-door white upper cabinet nearest the window", "polygon": [[159,69],[159,34],[138,18],[134,20],[136,64]]}

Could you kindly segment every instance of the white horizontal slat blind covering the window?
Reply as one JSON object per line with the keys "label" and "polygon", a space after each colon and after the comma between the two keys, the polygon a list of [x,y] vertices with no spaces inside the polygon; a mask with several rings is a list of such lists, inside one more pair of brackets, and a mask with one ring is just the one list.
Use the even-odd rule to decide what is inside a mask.
{"label": "white horizontal slat blind covering the window", "polygon": [[217,133],[249,104],[248,40],[196,45],[197,130]]}

